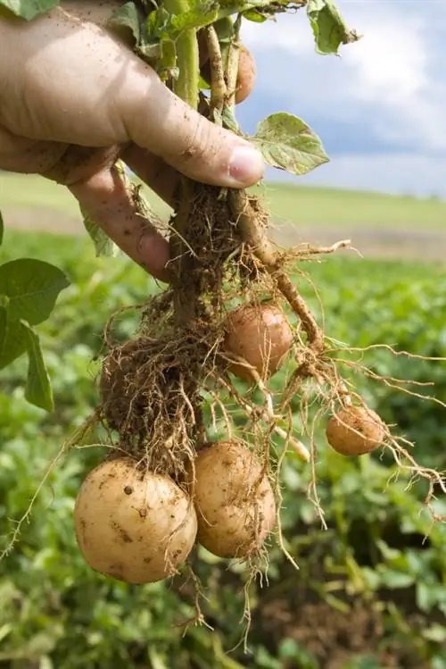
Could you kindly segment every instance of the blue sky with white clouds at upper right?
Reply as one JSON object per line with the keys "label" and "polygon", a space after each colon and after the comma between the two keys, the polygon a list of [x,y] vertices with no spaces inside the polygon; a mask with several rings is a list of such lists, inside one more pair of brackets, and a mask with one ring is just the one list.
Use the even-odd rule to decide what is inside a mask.
{"label": "blue sky with white clouds at upper right", "polygon": [[446,198],[446,0],[337,4],[363,36],[341,57],[316,53],[305,10],[245,21],[257,83],[238,108],[242,128],[253,134],[280,111],[306,121],[331,162],[291,178],[302,185]]}

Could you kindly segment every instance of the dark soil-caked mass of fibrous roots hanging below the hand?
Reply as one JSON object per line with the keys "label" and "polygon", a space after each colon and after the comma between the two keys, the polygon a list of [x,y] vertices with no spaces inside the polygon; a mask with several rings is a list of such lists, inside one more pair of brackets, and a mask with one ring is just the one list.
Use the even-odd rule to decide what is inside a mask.
{"label": "dark soil-caked mass of fibrous roots hanging below the hand", "polygon": [[171,288],[142,307],[136,339],[112,346],[105,330],[99,413],[120,450],[178,480],[205,441],[205,380],[227,366],[225,306],[258,271],[219,188],[184,180],[170,228]]}

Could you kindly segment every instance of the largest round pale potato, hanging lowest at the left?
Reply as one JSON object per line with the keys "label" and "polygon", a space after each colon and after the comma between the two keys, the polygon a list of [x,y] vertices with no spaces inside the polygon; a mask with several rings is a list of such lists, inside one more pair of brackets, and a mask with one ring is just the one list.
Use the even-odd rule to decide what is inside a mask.
{"label": "largest round pale potato, hanging lowest at the left", "polygon": [[197,520],[186,493],[130,457],[87,475],[74,509],[76,538],[97,572],[128,583],[161,581],[194,546]]}

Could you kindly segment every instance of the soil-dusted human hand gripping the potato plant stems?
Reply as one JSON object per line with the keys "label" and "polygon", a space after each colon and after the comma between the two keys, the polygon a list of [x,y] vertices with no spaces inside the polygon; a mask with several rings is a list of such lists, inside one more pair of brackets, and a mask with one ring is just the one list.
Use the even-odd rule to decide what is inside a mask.
{"label": "soil-dusted human hand gripping the potato plant stems", "polygon": [[[169,204],[180,173],[246,188],[264,165],[248,142],[185,105],[122,35],[105,29],[118,6],[76,0],[30,23],[0,17],[0,169],[64,184],[127,255],[167,280],[168,243],[137,214],[118,158]],[[252,69],[242,52],[238,101],[250,92]]]}

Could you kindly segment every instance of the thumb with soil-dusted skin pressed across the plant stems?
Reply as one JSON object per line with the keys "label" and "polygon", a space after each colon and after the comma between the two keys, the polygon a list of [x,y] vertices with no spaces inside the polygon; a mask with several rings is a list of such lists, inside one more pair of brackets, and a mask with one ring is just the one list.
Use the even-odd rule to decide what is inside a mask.
{"label": "thumb with soil-dusted skin pressed across the plant stems", "polygon": [[263,159],[248,141],[195,112],[145,63],[134,64],[121,88],[119,109],[137,146],[203,183],[247,188],[261,179]]}

